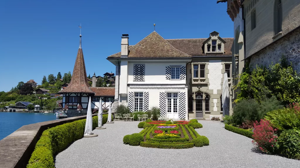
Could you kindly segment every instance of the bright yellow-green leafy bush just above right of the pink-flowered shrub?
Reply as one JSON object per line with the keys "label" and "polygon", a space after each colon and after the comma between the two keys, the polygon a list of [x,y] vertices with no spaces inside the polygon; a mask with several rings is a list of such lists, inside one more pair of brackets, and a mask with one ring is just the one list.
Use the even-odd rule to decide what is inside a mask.
{"label": "bright yellow-green leafy bush just above right of the pink-flowered shrub", "polygon": [[279,131],[285,129],[300,128],[300,114],[294,109],[278,109],[268,112],[265,119]]}

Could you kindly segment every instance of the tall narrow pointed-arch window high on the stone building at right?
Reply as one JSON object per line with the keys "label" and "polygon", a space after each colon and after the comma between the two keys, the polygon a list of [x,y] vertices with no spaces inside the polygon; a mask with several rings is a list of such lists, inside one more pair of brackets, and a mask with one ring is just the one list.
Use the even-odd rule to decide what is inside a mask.
{"label": "tall narrow pointed-arch window high on the stone building at right", "polygon": [[274,9],[274,34],[282,31],[282,5],[281,0],[275,0]]}

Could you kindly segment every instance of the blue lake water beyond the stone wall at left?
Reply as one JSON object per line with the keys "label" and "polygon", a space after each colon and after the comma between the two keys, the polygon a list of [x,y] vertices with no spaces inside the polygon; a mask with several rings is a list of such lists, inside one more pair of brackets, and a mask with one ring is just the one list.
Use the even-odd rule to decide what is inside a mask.
{"label": "blue lake water beyond the stone wall at left", "polygon": [[0,112],[0,140],[24,125],[49,120],[56,120],[56,115],[54,113]]}

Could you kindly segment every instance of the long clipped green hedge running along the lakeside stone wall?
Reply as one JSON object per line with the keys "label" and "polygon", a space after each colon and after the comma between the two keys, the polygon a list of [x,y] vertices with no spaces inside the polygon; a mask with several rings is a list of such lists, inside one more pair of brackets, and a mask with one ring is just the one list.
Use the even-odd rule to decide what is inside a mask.
{"label": "long clipped green hedge running along the lakeside stone wall", "polygon": [[[107,122],[108,114],[103,115],[102,123]],[[113,115],[112,115],[113,120]],[[55,168],[53,156],[63,151],[68,144],[83,137],[85,121],[77,120],[46,129],[35,145],[27,168]],[[98,116],[93,117],[93,129],[98,126]]]}

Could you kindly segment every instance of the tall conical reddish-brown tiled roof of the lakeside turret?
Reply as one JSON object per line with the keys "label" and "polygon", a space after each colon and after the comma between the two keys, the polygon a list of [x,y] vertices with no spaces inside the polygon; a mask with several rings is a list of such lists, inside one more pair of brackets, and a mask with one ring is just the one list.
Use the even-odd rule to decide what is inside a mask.
{"label": "tall conical reddish-brown tiled roof of the lakeside turret", "polygon": [[79,47],[70,84],[58,93],[94,93],[86,77],[82,48]]}

